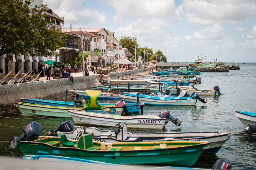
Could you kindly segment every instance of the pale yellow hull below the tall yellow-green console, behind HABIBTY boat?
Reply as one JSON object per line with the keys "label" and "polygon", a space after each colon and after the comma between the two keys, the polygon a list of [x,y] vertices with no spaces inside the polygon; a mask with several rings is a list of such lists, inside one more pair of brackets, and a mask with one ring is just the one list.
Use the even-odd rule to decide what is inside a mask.
{"label": "pale yellow hull below the tall yellow-green console, behind HABIBTY boat", "polygon": [[[19,108],[20,112],[24,116],[52,116],[52,117],[71,117],[68,114],[68,107],[59,107],[59,106],[44,106],[44,105],[36,105],[36,104],[25,104],[25,103],[16,103],[16,107]],[[87,112],[96,112],[96,113],[104,113],[104,114],[118,114],[121,115],[123,112],[123,107],[104,107],[102,109],[82,109],[75,108],[74,110],[79,111],[87,111]],[[111,112],[108,112],[108,109]]]}

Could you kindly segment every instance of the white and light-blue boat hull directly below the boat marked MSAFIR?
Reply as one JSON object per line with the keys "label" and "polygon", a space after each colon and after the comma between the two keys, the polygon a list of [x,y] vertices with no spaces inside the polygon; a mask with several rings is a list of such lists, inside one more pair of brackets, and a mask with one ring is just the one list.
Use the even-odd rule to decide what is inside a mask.
{"label": "white and light-blue boat hull directly below the boat marked MSAFIR", "polygon": [[[120,97],[124,100],[125,103],[137,103],[136,96],[129,96],[124,93],[120,93]],[[166,99],[167,98],[168,97],[166,97]],[[155,100],[149,97],[139,97],[139,102],[143,102],[145,105],[196,105],[196,99],[179,99],[178,97],[174,97],[172,100]]]}

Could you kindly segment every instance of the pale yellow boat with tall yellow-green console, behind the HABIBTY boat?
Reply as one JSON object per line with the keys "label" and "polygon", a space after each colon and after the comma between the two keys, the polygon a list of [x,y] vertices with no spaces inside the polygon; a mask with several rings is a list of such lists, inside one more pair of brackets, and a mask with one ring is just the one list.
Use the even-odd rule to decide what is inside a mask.
{"label": "pale yellow boat with tall yellow-green console, behind the HABIBTY boat", "polygon": [[[97,97],[101,94],[101,91],[87,90],[86,94],[90,96],[90,102],[86,104],[84,101],[83,108],[71,107],[73,110],[118,115],[123,113],[123,107],[116,107],[114,105],[106,105],[101,107],[97,103]],[[71,117],[68,114],[68,110],[70,110],[69,107],[28,104],[20,102],[15,103],[15,106],[19,108],[20,112],[24,116]]]}

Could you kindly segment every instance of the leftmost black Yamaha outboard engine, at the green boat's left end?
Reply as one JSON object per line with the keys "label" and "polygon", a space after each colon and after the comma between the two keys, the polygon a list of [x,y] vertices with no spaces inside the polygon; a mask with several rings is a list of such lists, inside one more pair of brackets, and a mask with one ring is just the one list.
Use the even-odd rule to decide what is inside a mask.
{"label": "leftmost black Yamaha outboard engine, at the green boat's left end", "polygon": [[42,132],[42,126],[37,123],[37,122],[31,122],[29,123],[27,126],[24,126],[23,128],[24,133],[20,136],[20,137],[15,137],[14,136],[14,140],[10,140],[10,146],[9,148],[11,150],[14,150],[15,148],[20,147],[20,141],[25,140],[28,141],[33,141],[35,140],[37,137],[39,137],[39,135]]}

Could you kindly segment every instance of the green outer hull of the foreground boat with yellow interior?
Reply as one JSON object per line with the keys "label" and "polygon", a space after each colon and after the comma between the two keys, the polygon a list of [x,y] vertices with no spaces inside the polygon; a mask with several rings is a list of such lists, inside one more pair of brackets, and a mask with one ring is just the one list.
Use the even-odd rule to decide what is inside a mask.
{"label": "green outer hull of the foreground boat with yellow interior", "polygon": [[[109,143],[98,143],[97,146],[109,145]],[[144,143],[142,143],[144,144]],[[115,146],[115,143],[110,143]],[[118,144],[119,147],[127,144]],[[138,144],[136,144],[138,145]],[[159,144],[157,144],[159,146]],[[182,146],[182,143],[177,144]],[[164,165],[164,166],[192,166],[199,158],[204,149],[208,148],[209,143],[163,148],[163,149],[148,149],[130,151],[89,151],[80,148],[65,148],[56,147],[40,142],[20,142],[20,150],[22,154],[41,154],[41,155],[56,155],[70,158],[87,159],[92,161],[100,161],[114,164],[148,164],[148,165]],[[95,142],[93,147],[95,147]],[[132,147],[133,148],[133,147]]]}

